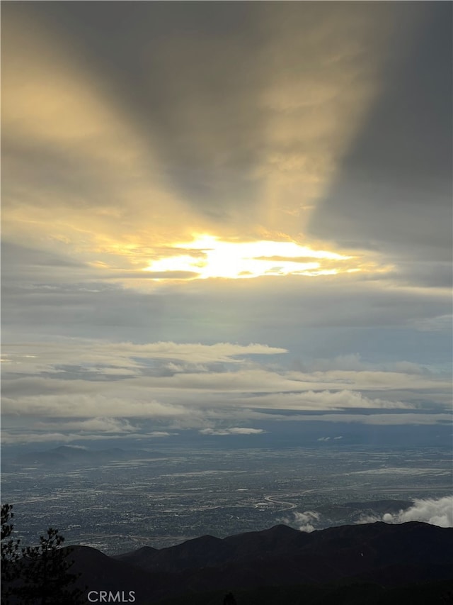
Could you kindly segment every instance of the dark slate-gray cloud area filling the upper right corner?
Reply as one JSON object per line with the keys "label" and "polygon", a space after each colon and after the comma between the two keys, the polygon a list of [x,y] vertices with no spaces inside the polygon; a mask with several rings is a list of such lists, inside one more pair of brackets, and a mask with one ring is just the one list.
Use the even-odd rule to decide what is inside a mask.
{"label": "dark slate-gray cloud area filling the upper right corner", "polygon": [[452,6],[420,4],[425,18],[407,49],[396,40],[382,92],[310,229],[406,261],[451,261]]}

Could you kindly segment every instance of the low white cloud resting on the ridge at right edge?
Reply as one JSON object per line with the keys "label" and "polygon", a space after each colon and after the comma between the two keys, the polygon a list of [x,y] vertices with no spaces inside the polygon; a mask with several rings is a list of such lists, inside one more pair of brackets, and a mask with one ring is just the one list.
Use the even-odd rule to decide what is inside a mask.
{"label": "low white cloud resting on the ridge at right edge", "polygon": [[439,527],[453,527],[453,496],[438,499],[415,499],[413,506],[398,513],[386,513],[381,516],[363,515],[357,523],[408,523],[421,521]]}

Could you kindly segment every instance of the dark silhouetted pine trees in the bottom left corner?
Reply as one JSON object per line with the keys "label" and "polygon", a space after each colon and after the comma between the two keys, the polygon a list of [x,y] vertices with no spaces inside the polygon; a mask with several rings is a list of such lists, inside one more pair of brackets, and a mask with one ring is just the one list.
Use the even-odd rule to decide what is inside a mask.
{"label": "dark silhouetted pine trees in the bottom left corner", "polygon": [[[84,593],[74,587],[79,576],[69,572],[74,561],[68,559],[71,548],[62,548],[63,536],[57,529],[49,528],[47,535],[40,536],[38,546],[22,548],[19,554],[19,540],[9,538],[11,508],[9,504],[1,507],[1,560],[7,562],[6,576],[3,566],[1,572],[2,604],[8,602],[4,596],[6,599],[14,596],[14,602],[22,605],[83,604]],[[4,540],[4,535],[9,539]]]}

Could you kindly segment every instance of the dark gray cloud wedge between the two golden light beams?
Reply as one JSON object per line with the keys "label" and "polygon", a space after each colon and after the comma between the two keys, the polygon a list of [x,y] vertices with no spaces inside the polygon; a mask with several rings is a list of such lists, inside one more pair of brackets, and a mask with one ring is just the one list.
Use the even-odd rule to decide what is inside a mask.
{"label": "dark gray cloud wedge between the two golden light beams", "polygon": [[[253,204],[256,196],[248,174],[263,147],[260,12],[249,3],[96,2],[42,3],[25,16],[69,36],[81,64],[158,150],[161,177],[222,220],[226,204]],[[63,174],[76,179],[74,171]]]}

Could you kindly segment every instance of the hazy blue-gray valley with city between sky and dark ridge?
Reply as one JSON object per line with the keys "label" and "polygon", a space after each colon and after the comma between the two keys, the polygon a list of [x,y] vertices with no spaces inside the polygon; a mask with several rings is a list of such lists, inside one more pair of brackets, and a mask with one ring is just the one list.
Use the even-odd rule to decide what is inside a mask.
{"label": "hazy blue-gray valley with city between sky and dark ridge", "polygon": [[378,520],[414,499],[451,495],[445,448],[63,447],[4,462],[2,474],[2,498],[14,504],[26,543],[53,526],[68,544],[107,554],[277,523],[311,531]]}

